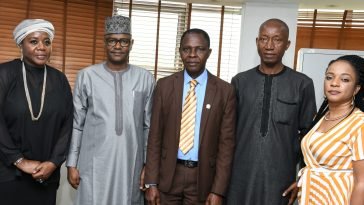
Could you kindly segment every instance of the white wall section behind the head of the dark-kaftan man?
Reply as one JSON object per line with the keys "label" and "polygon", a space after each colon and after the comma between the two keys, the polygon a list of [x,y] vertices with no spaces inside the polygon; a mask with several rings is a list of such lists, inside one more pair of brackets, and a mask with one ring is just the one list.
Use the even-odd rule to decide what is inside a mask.
{"label": "white wall section behind the head of the dark-kaftan man", "polygon": [[285,53],[283,63],[293,67],[298,3],[247,2],[243,6],[242,12],[238,72],[253,68],[260,63],[255,38],[258,36],[260,25],[270,18],[279,18],[286,22],[289,27],[291,46]]}

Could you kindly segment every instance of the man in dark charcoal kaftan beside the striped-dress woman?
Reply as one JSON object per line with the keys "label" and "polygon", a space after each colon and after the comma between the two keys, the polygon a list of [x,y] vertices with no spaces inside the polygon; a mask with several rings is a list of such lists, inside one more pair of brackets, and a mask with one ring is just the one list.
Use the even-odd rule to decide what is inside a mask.
{"label": "man in dark charcoal kaftan beside the striped-dress woman", "polygon": [[228,205],[287,205],[295,200],[295,189],[287,189],[295,182],[300,137],[316,106],[312,80],[282,64],[289,43],[283,21],[264,22],[257,37],[261,64],[232,79],[238,111]]}

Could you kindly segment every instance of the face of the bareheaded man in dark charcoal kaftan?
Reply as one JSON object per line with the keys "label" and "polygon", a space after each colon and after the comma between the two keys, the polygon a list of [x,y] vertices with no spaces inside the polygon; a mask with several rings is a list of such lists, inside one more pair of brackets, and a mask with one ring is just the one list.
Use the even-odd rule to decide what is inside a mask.
{"label": "face of the bareheaded man in dark charcoal kaftan", "polygon": [[269,21],[263,25],[256,38],[261,63],[275,66],[282,63],[285,51],[289,48],[288,31],[282,24]]}

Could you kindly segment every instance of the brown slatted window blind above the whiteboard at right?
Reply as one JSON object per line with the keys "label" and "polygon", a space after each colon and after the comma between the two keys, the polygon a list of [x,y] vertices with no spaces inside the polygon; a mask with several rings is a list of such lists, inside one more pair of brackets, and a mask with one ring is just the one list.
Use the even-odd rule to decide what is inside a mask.
{"label": "brown slatted window blind above the whiteboard at right", "polygon": [[364,11],[298,11],[296,55],[300,48],[364,50]]}

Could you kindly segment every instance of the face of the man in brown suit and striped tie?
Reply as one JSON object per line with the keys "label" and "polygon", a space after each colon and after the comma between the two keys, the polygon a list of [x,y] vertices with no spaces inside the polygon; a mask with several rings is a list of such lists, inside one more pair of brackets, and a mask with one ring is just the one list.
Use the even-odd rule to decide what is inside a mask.
{"label": "face of the man in brown suit and striped tie", "polygon": [[187,73],[197,78],[205,70],[211,49],[202,34],[190,33],[183,38],[179,52]]}

